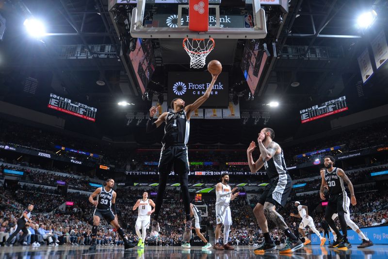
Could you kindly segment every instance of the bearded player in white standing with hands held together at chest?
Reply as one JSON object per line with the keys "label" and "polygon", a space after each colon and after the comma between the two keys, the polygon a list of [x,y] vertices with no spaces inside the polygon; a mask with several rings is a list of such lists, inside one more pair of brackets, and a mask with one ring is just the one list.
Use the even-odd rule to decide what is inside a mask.
{"label": "bearded player in white standing with hands held together at chest", "polygon": [[[236,192],[237,187],[231,190],[229,183],[229,175],[227,173],[223,173],[221,175],[221,183],[218,183],[215,186],[215,214],[216,214],[216,222],[217,226],[215,228],[215,241],[213,248],[216,250],[233,250],[233,246],[227,243],[229,238],[229,230],[232,224],[232,215],[230,213],[229,203],[236,199],[240,192]],[[234,193],[234,194],[233,194]],[[224,245],[220,244],[220,235],[221,228],[224,225]]]}

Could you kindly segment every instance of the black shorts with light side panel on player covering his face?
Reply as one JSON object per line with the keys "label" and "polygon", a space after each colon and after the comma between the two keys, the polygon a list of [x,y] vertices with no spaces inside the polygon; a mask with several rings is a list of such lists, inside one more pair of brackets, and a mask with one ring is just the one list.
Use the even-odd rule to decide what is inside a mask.
{"label": "black shorts with light side panel on player covering his face", "polygon": [[265,202],[284,207],[291,194],[292,181],[290,174],[281,174],[276,178],[270,179],[270,183],[265,187],[264,192],[259,198],[259,204]]}

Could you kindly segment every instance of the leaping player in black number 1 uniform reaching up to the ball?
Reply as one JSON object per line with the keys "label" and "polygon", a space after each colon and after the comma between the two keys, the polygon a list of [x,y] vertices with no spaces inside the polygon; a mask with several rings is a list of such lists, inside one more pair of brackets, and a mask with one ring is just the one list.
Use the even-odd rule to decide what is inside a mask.
{"label": "leaping player in black number 1 uniform reaching up to the ball", "polygon": [[[158,167],[159,187],[155,201],[156,207],[151,224],[151,233],[157,233],[160,231],[158,223],[159,211],[163,203],[163,194],[166,188],[167,178],[171,172],[172,165],[174,164],[174,172],[179,176],[180,189],[182,190],[182,200],[186,214],[185,231],[187,232],[187,235],[185,236],[187,238],[191,238],[192,221],[190,220],[190,194],[188,187],[189,159],[186,144],[189,140],[190,114],[208,100],[218,74],[212,74],[211,76],[212,80],[208,89],[206,89],[205,93],[193,104],[185,106],[185,102],[182,99],[175,98],[171,102],[171,108],[174,110],[171,112],[163,112],[155,122],[152,122],[152,119],[156,114],[157,108],[152,106],[149,109],[150,118],[146,126],[147,133],[154,131],[163,122],[166,122],[166,125],[164,126],[165,133],[162,138],[162,152]],[[185,241],[188,242],[190,239]]]}

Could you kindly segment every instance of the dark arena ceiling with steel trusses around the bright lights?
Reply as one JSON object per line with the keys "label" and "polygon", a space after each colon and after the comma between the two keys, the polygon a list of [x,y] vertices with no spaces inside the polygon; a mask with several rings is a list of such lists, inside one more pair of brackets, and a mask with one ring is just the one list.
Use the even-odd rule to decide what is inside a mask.
{"label": "dark arena ceiling with steel trusses around the bright lights", "polygon": [[[152,144],[160,138],[159,135],[151,138],[145,135],[144,121],[139,125],[132,123],[127,126],[127,112],[147,112],[150,102],[142,100],[142,93],[134,83],[136,79],[127,75],[120,61],[123,39],[116,34],[107,1],[1,2],[0,14],[7,20],[7,30],[0,42],[2,101],[60,116],[47,109],[48,95],[54,92],[98,108],[94,124],[66,117],[69,122],[66,129],[70,131],[84,134],[87,129],[97,138],[105,136],[117,141],[136,140],[142,144]],[[299,116],[302,108],[343,95],[352,100],[350,113],[386,104],[387,69],[381,69],[366,85],[361,86],[363,95],[359,94],[360,86],[357,88],[357,82],[361,80],[357,57],[370,41],[369,35],[381,29],[387,30],[386,18],[382,15],[371,31],[362,34],[356,28],[357,15],[372,6],[378,13],[387,11],[386,1],[380,0],[291,0],[289,13],[283,16],[281,24],[276,24],[274,19],[278,13],[266,7],[271,26],[268,26],[269,34],[262,43],[276,42],[277,58],[265,74],[253,101],[246,101],[248,86],[239,67],[245,40],[234,41],[234,52],[230,52],[230,42],[221,42],[217,48],[233,54],[225,70],[231,74],[232,91],[240,95],[241,109],[268,110],[265,104],[277,100],[280,106],[268,110],[271,119],[266,126],[276,129],[280,139],[286,139],[331,129],[330,120],[333,117],[302,125]],[[42,17],[48,24],[49,36],[42,41],[28,38],[24,33],[22,24],[29,14]],[[62,46],[77,44],[84,45],[84,51],[94,57],[64,58]],[[101,57],[100,50],[91,47],[97,44],[113,46],[109,57]],[[174,62],[171,55],[163,57],[160,52],[163,44],[168,45],[169,42],[153,40],[160,66],[157,66],[148,86],[150,90],[160,93],[166,92],[166,72],[188,69],[188,64]],[[34,94],[23,91],[28,77],[39,82]],[[97,80],[105,82],[105,85],[97,85]],[[294,82],[299,86],[293,87]],[[122,98],[130,99],[135,105],[120,110],[117,102]],[[199,120],[192,123],[190,141],[204,144],[247,143],[264,126],[263,121],[255,123],[252,119],[245,124],[240,120]]]}

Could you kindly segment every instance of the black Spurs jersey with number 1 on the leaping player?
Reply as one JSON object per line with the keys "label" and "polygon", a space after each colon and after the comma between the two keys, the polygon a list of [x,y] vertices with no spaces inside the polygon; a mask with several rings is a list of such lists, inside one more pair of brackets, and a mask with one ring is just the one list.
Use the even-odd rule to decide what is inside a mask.
{"label": "black Spurs jersey with number 1 on the leaping player", "polygon": [[189,141],[190,121],[184,110],[179,112],[170,111],[167,114],[164,126],[163,144],[187,144]]}

